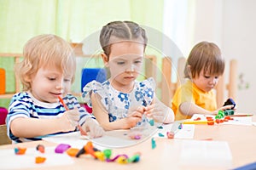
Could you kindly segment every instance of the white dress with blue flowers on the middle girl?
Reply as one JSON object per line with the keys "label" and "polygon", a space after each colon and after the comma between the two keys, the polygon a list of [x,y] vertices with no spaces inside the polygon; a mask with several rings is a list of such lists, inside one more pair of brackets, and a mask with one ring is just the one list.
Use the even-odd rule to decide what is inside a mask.
{"label": "white dress with blue flowers on the middle girl", "polygon": [[[91,107],[91,93],[99,94],[102,105],[108,111],[109,122],[114,122],[126,117],[131,107],[150,105],[154,99],[154,88],[155,82],[152,77],[143,82],[135,81],[134,88],[129,94],[114,89],[108,80],[102,83],[92,81],[84,86],[82,97],[84,102]],[[148,122],[145,116],[142,122]]]}

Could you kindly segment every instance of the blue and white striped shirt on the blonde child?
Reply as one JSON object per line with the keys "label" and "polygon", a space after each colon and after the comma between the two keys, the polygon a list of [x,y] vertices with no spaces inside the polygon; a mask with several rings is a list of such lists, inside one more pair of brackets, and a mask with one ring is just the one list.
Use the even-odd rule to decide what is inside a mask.
{"label": "blue and white striped shirt on the blonde child", "polygon": [[[82,125],[85,119],[88,117],[95,118],[84,110],[84,107],[79,105],[78,99],[73,95],[67,94],[63,98],[63,101],[69,109],[78,108],[80,112],[79,124]],[[9,104],[9,114],[6,118],[7,134],[9,139],[12,139],[15,143],[39,140],[45,136],[38,136],[35,138],[19,138],[16,137],[10,130],[10,123],[17,117],[31,117],[36,119],[52,119],[60,117],[65,112],[65,108],[60,102],[57,103],[44,103],[35,99],[32,94],[28,92],[22,92],[15,94]],[[44,127],[42,127],[44,128]],[[61,133],[61,132],[60,132]],[[56,133],[55,133],[56,134]],[[53,135],[53,134],[49,134]],[[47,136],[47,135],[46,135]]]}

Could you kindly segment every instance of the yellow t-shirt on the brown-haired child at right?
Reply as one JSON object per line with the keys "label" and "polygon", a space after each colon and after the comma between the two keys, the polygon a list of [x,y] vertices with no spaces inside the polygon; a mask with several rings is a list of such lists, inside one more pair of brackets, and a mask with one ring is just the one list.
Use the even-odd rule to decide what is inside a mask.
{"label": "yellow t-shirt on the brown-haired child at right", "polygon": [[172,110],[175,114],[175,120],[189,119],[191,116],[183,115],[179,111],[179,105],[183,102],[191,102],[207,111],[215,111],[217,109],[216,96],[214,91],[203,92],[197,88],[190,80],[177,88],[172,99]]}

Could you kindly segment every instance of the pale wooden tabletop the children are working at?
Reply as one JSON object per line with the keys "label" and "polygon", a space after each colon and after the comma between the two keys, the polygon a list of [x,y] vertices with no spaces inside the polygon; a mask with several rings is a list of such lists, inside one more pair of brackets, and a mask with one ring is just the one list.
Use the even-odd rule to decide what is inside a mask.
{"label": "pale wooden tabletop the children are working at", "polygon": [[[255,122],[256,116],[253,116]],[[227,141],[231,154],[233,156],[232,167],[240,167],[256,161],[256,127],[255,126],[237,126],[237,125],[195,125],[194,139],[212,139],[212,141]],[[188,167],[178,165],[179,144],[181,139],[155,139],[156,148],[152,150],[151,140],[143,143],[120,149],[113,149],[113,155],[127,154],[133,155],[135,152],[141,152],[141,161],[137,163],[118,164],[116,162],[105,162],[94,160],[90,157],[73,158],[75,163],[60,167],[40,167],[39,169],[206,169],[206,167]],[[29,142],[23,144],[1,145],[1,149],[11,149],[17,146],[36,147],[38,144],[45,146],[55,146],[56,144],[47,141]],[[0,165],[1,166],[1,165]],[[207,167],[207,169],[225,169],[217,167]]]}

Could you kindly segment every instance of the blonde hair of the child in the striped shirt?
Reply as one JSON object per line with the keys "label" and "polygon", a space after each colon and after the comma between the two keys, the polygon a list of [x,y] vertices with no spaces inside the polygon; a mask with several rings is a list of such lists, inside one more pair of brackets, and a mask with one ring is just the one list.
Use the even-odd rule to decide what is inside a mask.
{"label": "blonde hair of the child in the striped shirt", "polygon": [[24,59],[15,65],[15,72],[20,77],[25,91],[31,89],[27,78],[45,66],[57,66],[64,75],[71,75],[72,82],[74,81],[76,60],[73,48],[61,37],[51,34],[32,37],[23,48],[23,57]]}

